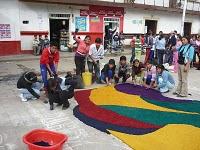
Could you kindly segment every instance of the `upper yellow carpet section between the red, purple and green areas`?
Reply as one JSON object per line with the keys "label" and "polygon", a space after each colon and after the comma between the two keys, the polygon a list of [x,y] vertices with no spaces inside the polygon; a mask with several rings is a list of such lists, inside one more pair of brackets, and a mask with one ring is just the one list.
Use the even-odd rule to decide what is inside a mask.
{"label": "upper yellow carpet section between the red, purple and green areas", "polygon": [[144,108],[156,111],[197,114],[192,112],[184,112],[174,109],[168,109],[154,104],[150,104],[145,100],[143,100],[142,98],[140,98],[140,96],[129,95],[119,92],[113,86],[106,86],[92,90],[90,94],[90,100],[96,105],[116,105],[116,106]]}

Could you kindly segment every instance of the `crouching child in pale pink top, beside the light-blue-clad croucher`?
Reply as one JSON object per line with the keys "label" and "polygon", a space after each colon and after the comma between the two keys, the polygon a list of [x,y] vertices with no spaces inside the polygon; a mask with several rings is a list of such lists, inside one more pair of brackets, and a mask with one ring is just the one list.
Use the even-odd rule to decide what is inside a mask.
{"label": "crouching child in pale pink top, beside the light-blue-clad croucher", "polygon": [[153,88],[156,81],[156,66],[152,62],[146,63],[146,71],[144,75],[144,86],[146,88]]}

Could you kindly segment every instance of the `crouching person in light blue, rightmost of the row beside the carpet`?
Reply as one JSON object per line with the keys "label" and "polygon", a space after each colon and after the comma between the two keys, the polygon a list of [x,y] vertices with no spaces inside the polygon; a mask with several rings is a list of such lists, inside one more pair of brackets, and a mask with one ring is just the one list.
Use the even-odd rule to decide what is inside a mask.
{"label": "crouching person in light blue, rightmost of the row beside the carpet", "polygon": [[172,75],[163,65],[157,66],[157,88],[161,93],[167,93],[175,87]]}

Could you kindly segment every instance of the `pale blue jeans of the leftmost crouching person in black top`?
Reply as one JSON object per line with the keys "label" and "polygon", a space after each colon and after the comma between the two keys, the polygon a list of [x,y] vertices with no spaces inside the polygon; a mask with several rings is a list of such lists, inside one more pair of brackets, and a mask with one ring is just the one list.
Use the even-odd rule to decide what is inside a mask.
{"label": "pale blue jeans of the leftmost crouching person in black top", "polygon": [[[40,90],[42,89],[43,83],[36,82],[32,84],[32,89],[40,95]],[[20,89],[20,94],[23,94],[25,99],[33,99],[35,98],[27,89]]]}

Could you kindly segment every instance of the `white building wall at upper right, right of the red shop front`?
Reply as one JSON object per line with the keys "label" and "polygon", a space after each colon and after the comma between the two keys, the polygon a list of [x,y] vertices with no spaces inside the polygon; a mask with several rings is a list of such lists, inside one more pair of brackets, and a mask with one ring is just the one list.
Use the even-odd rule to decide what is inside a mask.
{"label": "white building wall at upper right, right of the red shop front", "polygon": [[[157,33],[169,33],[172,30],[180,32],[182,15],[171,12],[144,11],[126,9],[124,18],[124,33],[145,33],[145,20],[157,20]],[[200,16],[186,15],[186,22],[192,23],[192,34],[198,34]]]}

